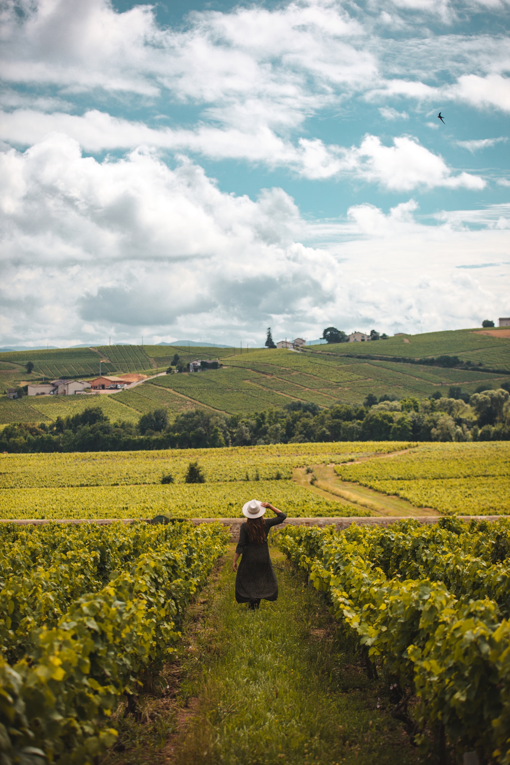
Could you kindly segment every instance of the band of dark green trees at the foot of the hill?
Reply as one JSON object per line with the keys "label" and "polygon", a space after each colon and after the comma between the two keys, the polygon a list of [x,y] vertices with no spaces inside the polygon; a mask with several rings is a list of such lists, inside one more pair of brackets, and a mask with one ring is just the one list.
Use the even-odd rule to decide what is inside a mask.
{"label": "band of dark green trees at the foot of the hill", "polygon": [[7,425],[0,451],[134,451],[220,448],[307,441],[491,441],[510,440],[510,383],[472,396],[451,386],[447,396],[425,399],[370,393],[359,405],[320,409],[291,402],[284,409],[222,415],[193,409],[168,421],[167,409],[141,415],[138,423],[111,422],[99,407],[40,425]]}

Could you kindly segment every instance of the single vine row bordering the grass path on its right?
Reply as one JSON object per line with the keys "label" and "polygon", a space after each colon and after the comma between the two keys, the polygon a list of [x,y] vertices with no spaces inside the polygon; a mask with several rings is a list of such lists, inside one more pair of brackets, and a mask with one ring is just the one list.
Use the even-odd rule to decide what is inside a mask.
{"label": "single vine row bordering the grass path on its right", "polygon": [[[508,765],[510,624],[499,605],[489,597],[458,600],[435,577],[388,578],[371,557],[371,540],[356,532],[290,526],[278,544],[326,593],[369,660],[382,662],[402,689],[401,704],[406,689],[417,695],[418,744],[426,745],[427,728],[443,727],[460,752]],[[500,565],[508,578],[508,564]]]}

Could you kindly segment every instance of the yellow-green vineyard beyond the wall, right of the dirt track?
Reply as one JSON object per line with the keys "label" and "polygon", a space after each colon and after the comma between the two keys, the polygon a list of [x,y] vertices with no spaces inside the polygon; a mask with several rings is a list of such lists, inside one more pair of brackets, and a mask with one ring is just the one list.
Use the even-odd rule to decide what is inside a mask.
{"label": "yellow-green vineyard beyond the wall, right of the dirt track", "polygon": [[459,515],[510,514],[510,444],[420,444],[398,457],[336,465],[343,480]]}

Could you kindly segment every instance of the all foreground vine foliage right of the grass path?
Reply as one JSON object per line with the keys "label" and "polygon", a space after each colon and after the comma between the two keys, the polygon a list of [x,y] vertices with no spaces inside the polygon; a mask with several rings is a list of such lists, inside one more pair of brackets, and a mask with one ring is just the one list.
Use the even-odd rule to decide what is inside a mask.
{"label": "all foreground vine foliage right of the grass path", "polygon": [[510,763],[510,524],[289,526],[278,545],[392,682],[420,700],[416,741]]}

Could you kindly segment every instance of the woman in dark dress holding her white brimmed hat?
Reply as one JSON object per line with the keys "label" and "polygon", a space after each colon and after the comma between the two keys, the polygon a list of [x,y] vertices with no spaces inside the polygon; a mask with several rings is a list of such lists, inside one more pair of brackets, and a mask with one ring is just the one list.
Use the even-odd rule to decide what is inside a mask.
{"label": "woman in dark dress holding her white brimmed hat", "polygon": [[[276,518],[263,518],[267,508],[276,513]],[[278,598],[278,582],[269,557],[268,533],[271,526],[283,523],[287,515],[271,503],[258,500],[247,502],[242,514],[247,520],[239,529],[239,542],[232,563],[232,571],[237,571],[237,559],[242,555],[236,575],[236,601],[248,603],[249,610],[255,610],[262,598],[265,601]]]}

